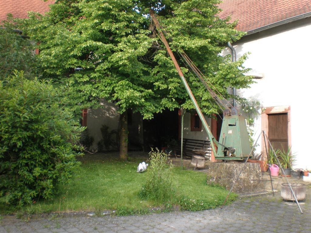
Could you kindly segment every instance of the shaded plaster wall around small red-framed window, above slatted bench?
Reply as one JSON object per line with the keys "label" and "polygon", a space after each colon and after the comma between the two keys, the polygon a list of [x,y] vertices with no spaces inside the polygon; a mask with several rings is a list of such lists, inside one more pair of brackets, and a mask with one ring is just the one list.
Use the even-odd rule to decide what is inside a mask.
{"label": "shaded plaster wall around small red-framed window, above slatted bench", "polygon": [[[190,113],[186,112],[184,114],[184,117],[183,117],[183,138],[209,141],[207,133],[206,133],[203,125],[202,125],[201,131],[191,131],[190,130],[190,117],[191,117]],[[211,127],[211,118],[208,118],[205,116],[205,120],[206,120],[207,124]]]}

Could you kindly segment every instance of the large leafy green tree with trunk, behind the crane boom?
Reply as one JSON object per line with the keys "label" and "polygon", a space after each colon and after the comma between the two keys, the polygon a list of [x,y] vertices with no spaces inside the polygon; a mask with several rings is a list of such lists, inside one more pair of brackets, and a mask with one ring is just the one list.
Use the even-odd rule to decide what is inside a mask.
{"label": "large leafy green tree with trunk, behind the crane boom", "polygon": [[[173,52],[183,49],[224,97],[228,87],[245,88],[246,56],[235,63],[221,57],[221,44],[242,32],[217,16],[218,0],[58,0],[45,16],[32,14],[26,33],[40,42],[39,68],[55,85],[73,83],[75,103],[97,106],[114,102],[121,114],[120,158],[127,154],[127,110],[145,119],[163,109],[193,108],[183,84],[154,27],[150,8],[166,30]],[[183,62],[179,59],[179,64]],[[183,72],[202,111],[219,109],[196,77]]]}

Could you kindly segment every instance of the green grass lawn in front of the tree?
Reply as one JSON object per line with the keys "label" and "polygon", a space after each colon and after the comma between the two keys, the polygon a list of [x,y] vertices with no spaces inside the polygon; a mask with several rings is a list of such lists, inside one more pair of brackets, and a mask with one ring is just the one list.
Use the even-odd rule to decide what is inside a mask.
{"label": "green grass lawn in front of the tree", "polygon": [[[139,162],[146,157],[130,154],[130,161],[120,162],[117,153],[113,155],[98,153],[85,155],[76,176],[52,200],[44,200],[31,206],[23,207],[28,213],[75,212],[104,210],[131,210],[132,213],[146,212],[159,207],[156,203],[143,200],[138,193],[145,182],[146,172],[137,173]],[[201,200],[208,203],[208,208],[219,206],[228,191],[221,187],[206,184],[206,174],[191,170],[173,168],[176,185],[176,199],[170,205],[179,205],[181,197],[188,201]],[[230,195],[230,200],[236,194]],[[1,212],[7,212],[2,210]]]}

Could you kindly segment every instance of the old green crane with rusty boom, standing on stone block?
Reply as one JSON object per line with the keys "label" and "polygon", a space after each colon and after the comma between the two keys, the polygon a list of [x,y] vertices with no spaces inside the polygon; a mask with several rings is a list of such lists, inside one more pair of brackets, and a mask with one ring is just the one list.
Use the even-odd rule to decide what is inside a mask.
{"label": "old green crane with rusty boom, standing on stone block", "polygon": [[[178,65],[178,62],[176,61],[172,50],[169,48],[169,44],[167,43],[167,40],[165,39],[165,36],[162,32],[164,31],[163,27],[161,27],[159,21],[156,19],[156,16],[154,15],[153,10],[150,10],[149,13],[151,15],[152,21],[154,22],[156,29],[159,32],[160,39],[164,43],[165,48],[167,49],[167,52],[169,53],[169,56],[171,57],[174,63],[174,66],[176,67],[176,70],[183,82],[183,85],[185,86],[189,94],[189,97],[191,101],[193,102],[193,105],[202,121],[202,125],[204,126],[207,132],[207,135],[208,135],[208,139],[211,142],[211,148],[214,153],[214,156],[216,155],[215,158],[221,159],[221,160],[245,160],[247,159],[249,154],[251,153],[251,146],[249,143],[245,118],[242,116],[239,116],[239,112],[234,106],[229,108],[227,105],[225,105],[223,101],[217,96],[217,94],[207,84],[206,78],[204,77],[202,72],[198,70],[195,64],[193,64],[190,58],[184,52],[181,52],[181,53],[179,52],[180,57],[182,57],[183,60],[188,64],[189,68],[194,72],[194,74],[202,82],[202,84],[207,89],[207,91],[211,94],[211,97],[215,100],[215,103],[223,110],[224,118],[223,118],[223,123],[221,127],[220,142],[218,142],[215,139],[215,137],[211,133],[209,126],[207,125],[207,122],[202,114],[202,111],[200,107],[198,106],[197,101],[194,98],[192,91],[185,77],[183,76],[183,72],[181,71]],[[217,153],[216,153],[215,145],[218,147]]]}

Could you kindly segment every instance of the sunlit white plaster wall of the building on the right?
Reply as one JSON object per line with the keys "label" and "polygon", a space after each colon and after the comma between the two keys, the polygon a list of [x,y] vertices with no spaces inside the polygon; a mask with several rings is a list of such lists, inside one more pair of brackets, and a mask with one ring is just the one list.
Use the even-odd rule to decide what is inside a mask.
{"label": "sunlit white plaster wall of the building on the right", "polygon": [[[237,57],[251,52],[244,66],[252,68],[251,73],[264,75],[250,89],[242,89],[238,93],[245,98],[258,98],[262,107],[290,105],[292,152],[297,153],[295,167],[311,169],[311,20],[304,25],[292,27],[288,24],[287,27],[277,34],[235,43]],[[226,49],[223,55],[228,53]],[[260,118],[254,129],[256,140],[261,132]],[[260,148],[261,145],[259,151]]]}

